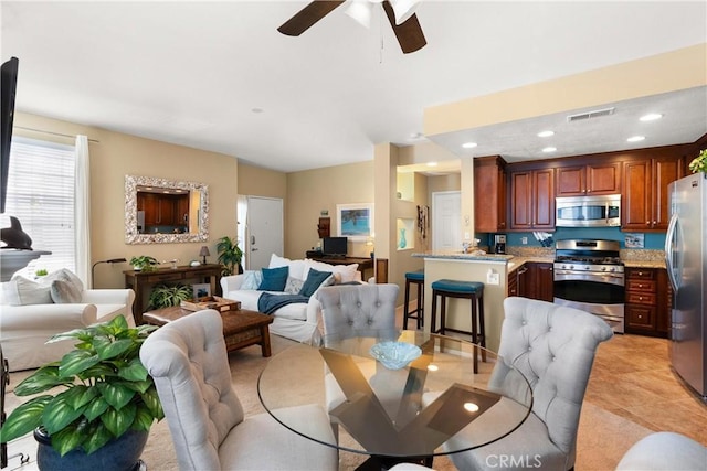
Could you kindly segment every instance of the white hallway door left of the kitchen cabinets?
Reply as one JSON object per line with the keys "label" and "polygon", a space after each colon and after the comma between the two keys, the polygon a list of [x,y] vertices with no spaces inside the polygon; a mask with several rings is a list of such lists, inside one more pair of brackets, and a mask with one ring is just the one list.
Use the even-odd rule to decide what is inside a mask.
{"label": "white hallway door left of the kitchen cabinets", "polygon": [[432,193],[432,248],[434,250],[462,249],[462,193],[443,191]]}

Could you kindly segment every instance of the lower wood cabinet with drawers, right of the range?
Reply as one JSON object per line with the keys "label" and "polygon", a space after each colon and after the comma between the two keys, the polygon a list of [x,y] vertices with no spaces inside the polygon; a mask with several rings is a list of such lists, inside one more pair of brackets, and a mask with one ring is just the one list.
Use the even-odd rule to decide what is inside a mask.
{"label": "lower wood cabinet with drawers, right of the range", "polygon": [[625,332],[667,336],[671,292],[662,268],[626,267]]}

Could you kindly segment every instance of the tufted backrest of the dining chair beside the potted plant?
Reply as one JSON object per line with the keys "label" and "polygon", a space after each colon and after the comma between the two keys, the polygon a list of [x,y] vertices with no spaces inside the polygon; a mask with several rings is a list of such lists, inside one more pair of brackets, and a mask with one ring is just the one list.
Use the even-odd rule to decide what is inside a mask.
{"label": "tufted backrest of the dining chair beside the potted plant", "polygon": [[222,332],[221,315],[203,310],[159,328],[140,349],[181,470],[221,469],[219,447],[243,421]]}

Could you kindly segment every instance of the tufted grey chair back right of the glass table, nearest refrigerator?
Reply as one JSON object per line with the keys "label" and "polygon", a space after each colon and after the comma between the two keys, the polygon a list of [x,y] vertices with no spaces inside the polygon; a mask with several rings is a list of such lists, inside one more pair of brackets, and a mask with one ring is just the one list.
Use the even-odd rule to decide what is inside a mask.
{"label": "tufted grey chair back right of the glass table, nearest refrigerator", "polygon": [[574,462],[579,416],[599,344],[611,328],[597,315],[545,301],[504,300],[499,362],[489,384],[514,396],[513,365],[530,382],[532,413],[545,422],[550,441]]}

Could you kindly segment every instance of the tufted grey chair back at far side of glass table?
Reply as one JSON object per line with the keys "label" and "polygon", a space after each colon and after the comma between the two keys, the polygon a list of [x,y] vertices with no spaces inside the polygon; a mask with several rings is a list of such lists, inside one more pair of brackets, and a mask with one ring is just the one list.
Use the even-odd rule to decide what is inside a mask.
{"label": "tufted grey chair back at far side of glass table", "polygon": [[376,336],[395,329],[398,285],[344,285],[320,288],[326,338]]}

